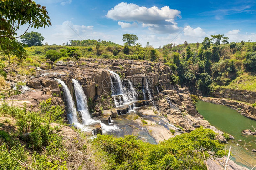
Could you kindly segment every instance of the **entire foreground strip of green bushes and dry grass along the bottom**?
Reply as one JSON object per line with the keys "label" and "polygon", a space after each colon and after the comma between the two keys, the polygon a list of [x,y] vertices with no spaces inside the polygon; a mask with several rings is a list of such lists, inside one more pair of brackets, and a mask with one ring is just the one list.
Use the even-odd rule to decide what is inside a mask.
{"label": "entire foreground strip of green bushes and dry grass along the bottom", "polygon": [[3,103],[0,106],[0,167],[2,169],[206,169],[206,159],[222,157],[224,146],[215,133],[199,128],[158,145],[135,136],[115,138],[98,135],[89,141],[83,133],[73,138],[62,135],[63,108],[51,99],[41,102],[40,111],[30,112]]}

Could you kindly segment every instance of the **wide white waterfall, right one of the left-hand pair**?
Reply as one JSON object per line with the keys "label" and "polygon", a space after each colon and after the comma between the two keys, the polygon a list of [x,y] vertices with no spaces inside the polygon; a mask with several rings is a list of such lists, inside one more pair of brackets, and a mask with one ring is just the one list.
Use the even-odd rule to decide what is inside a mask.
{"label": "wide white waterfall, right one of the left-hand pair", "polygon": [[74,83],[75,96],[77,100],[77,111],[81,113],[82,123],[88,124],[91,120],[91,115],[88,110],[86,95],[84,94],[82,85],[80,85],[75,79],[72,79],[72,81]]}

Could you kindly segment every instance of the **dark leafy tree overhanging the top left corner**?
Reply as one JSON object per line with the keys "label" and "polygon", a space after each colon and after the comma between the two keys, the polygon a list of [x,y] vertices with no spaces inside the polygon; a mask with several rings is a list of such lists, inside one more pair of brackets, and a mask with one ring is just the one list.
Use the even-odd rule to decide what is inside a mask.
{"label": "dark leafy tree overhanging the top left corner", "polygon": [[[19,59],[26,58],[24,45],[16,38],[21,25],[39,28],[51,25],[45,6],[36,4],[34,0],[1,0],[0,1],[0,45],[1,52],[9,57],[16,55]],[[24,35],[23,34],[23,35]]]}

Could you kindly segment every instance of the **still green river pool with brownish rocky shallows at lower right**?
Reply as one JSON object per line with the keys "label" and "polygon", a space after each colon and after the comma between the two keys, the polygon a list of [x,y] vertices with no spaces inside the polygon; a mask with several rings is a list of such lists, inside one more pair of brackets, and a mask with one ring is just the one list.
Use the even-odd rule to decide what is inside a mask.
{"label": "still green river pool with brownish rocky shallows at lower right", "polygon": [[[256,164],[256,153],[252,149],[256,149],[256,142],[243,146],[250,141],[255,141],[254,135],[243,135],[242,130],[251,129],[251,125],[256,128],[256,121],[240,115],[236,110],[231,109],[225,105],[216,105],[210,102],[199,101],[196,105],[198,112],[204,116],[205,120],[219,130],[234,136],[234,140],[229,140],[226,144],[228,150],[232,146],[231,158],[238,165],[244,165],[251,169]],[[253,130],[254,131],[254,130]],[[242,142],[238,140],[241,139]],[[240,146],[236,146],[236,144]],[[248,150],[246,150],[246,148]]]}

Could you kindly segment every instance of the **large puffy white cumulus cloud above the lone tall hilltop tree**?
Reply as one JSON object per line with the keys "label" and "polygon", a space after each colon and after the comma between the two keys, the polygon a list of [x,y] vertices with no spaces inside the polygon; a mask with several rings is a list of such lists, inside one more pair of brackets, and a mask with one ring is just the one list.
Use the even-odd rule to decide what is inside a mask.
{"label": "large puffy white cumulus cloud above the lone tall hilltop tree", "polygon": [[120,21],[138,22],[143,27],[148,27],[149,30],[155,30],[159,33],[173,33],[179,30],[175,19],[181,16],[179,10],[170,9],[169,6],[160,9],[156,6],[147,8],[121,2],[109,10],[106,17],[119,21],[118,25],[121,27],[124,24],[121,24]]}

